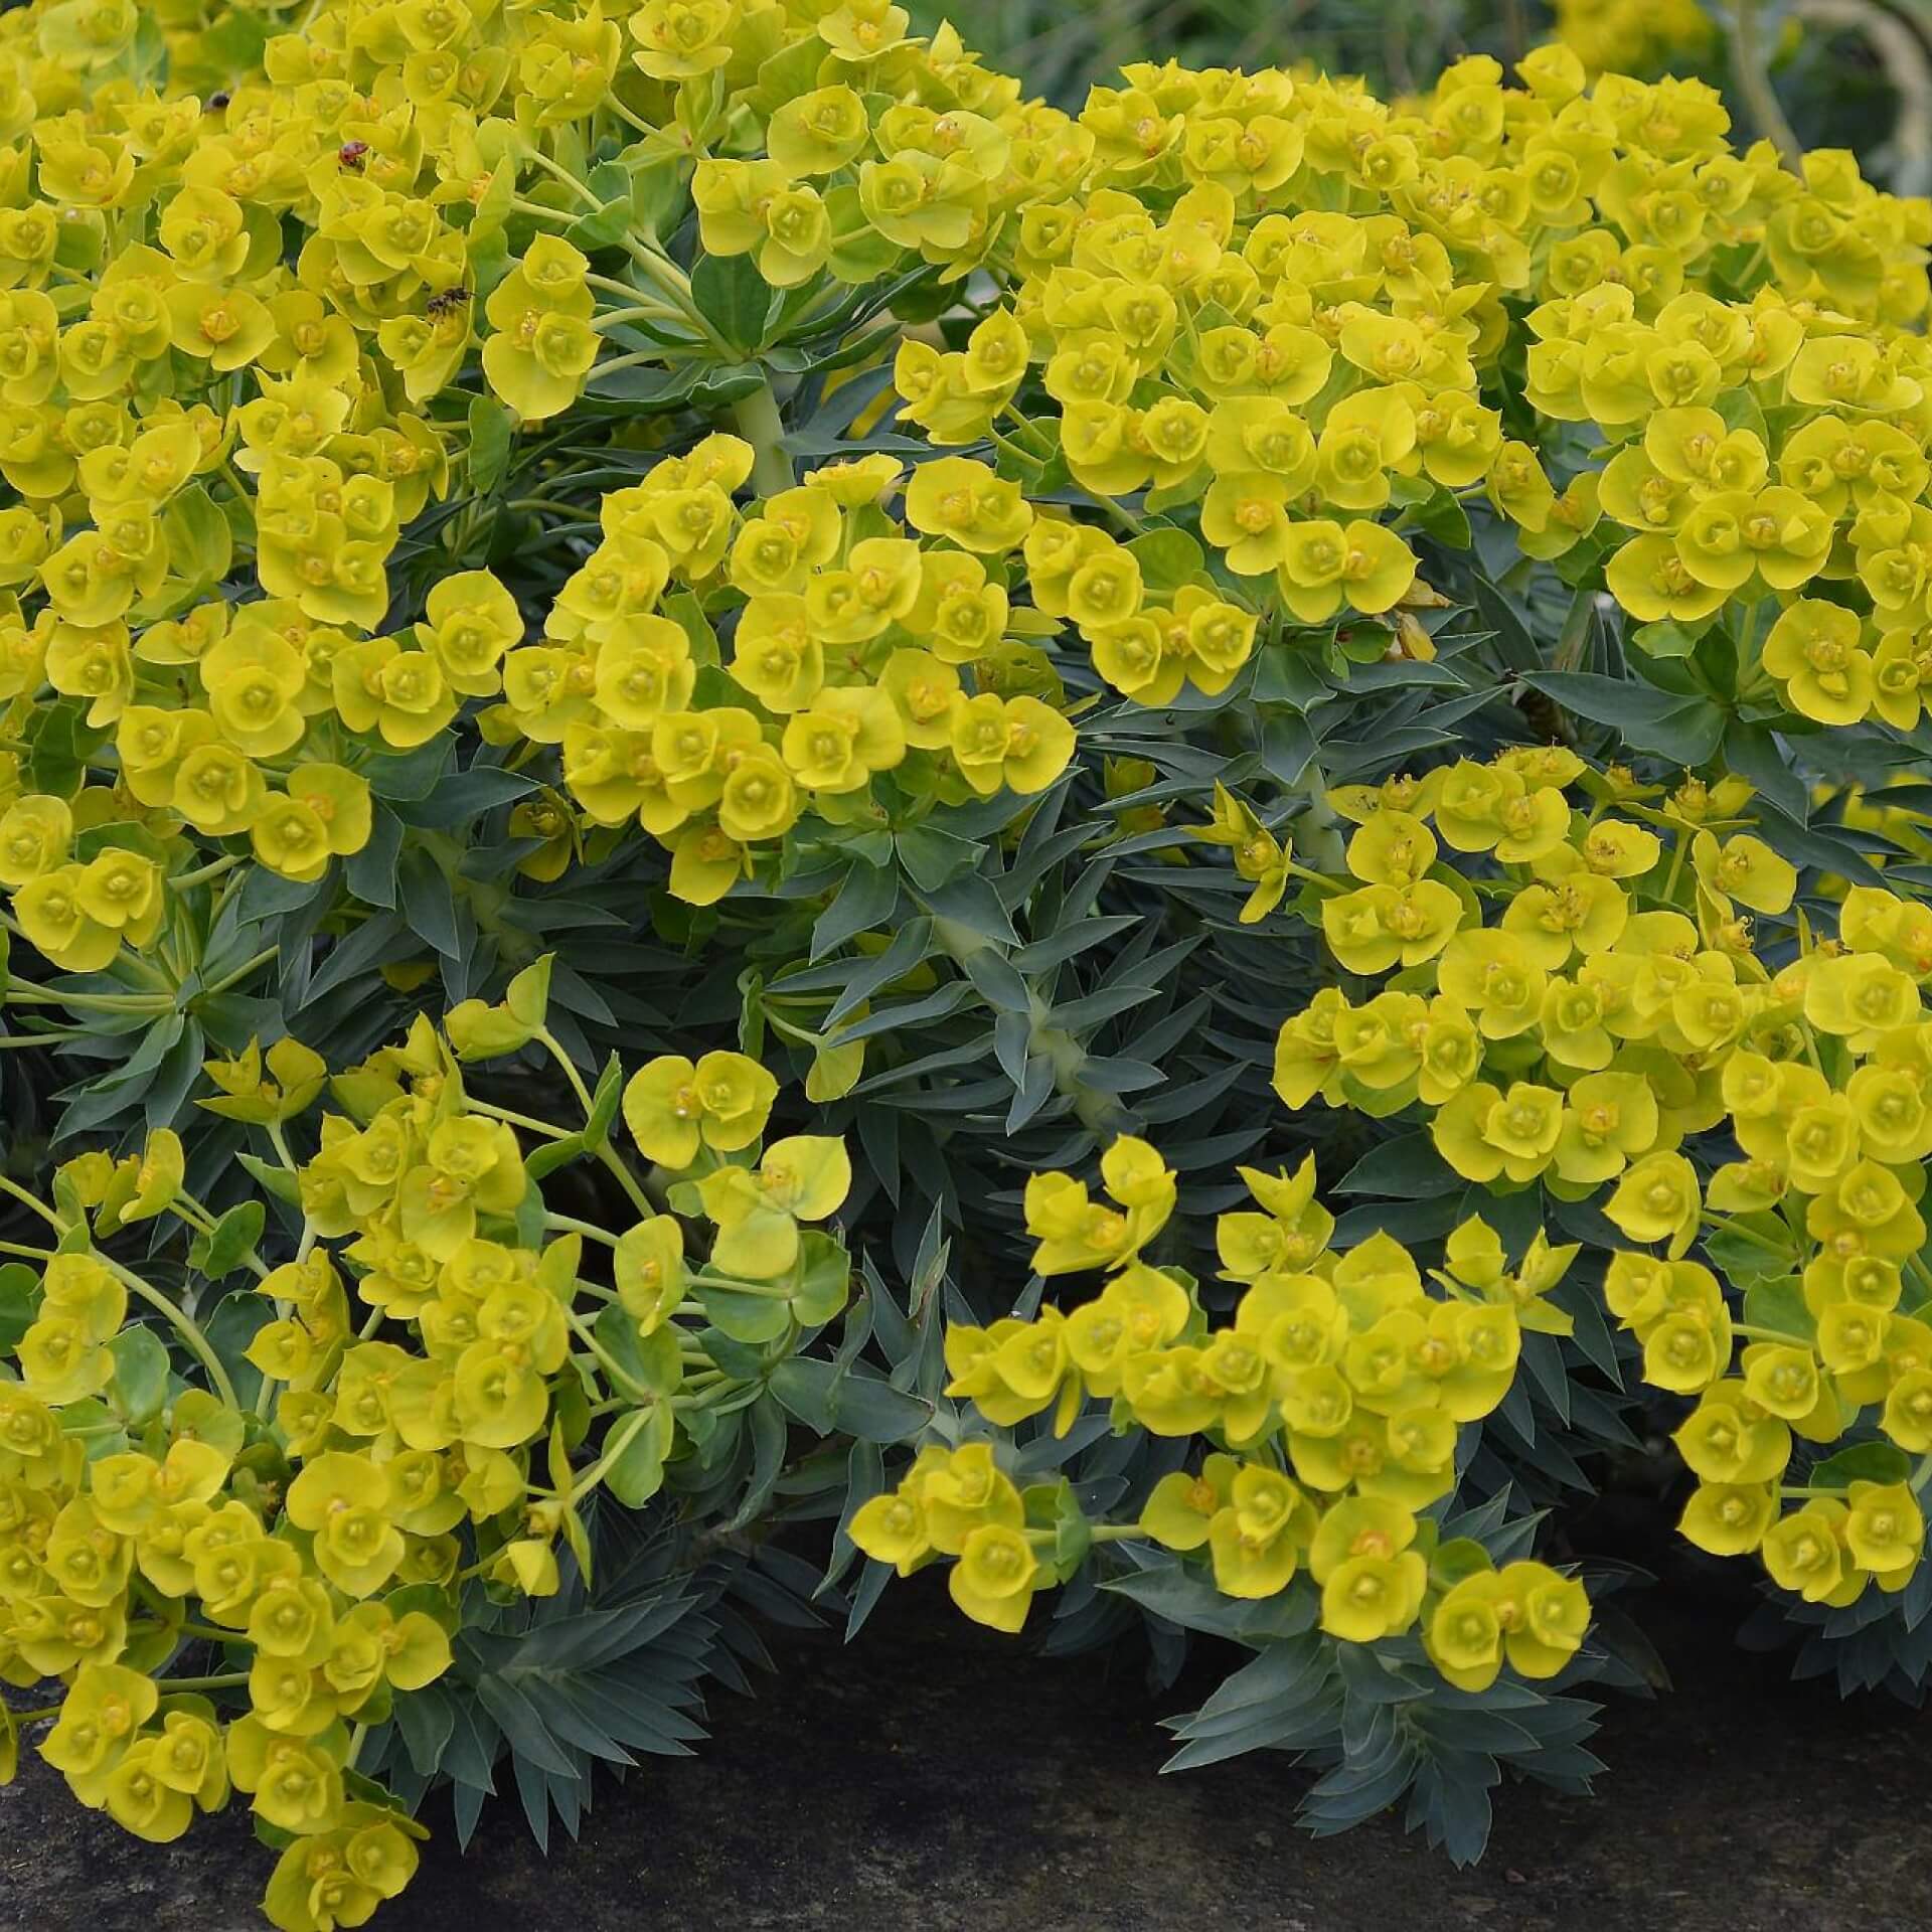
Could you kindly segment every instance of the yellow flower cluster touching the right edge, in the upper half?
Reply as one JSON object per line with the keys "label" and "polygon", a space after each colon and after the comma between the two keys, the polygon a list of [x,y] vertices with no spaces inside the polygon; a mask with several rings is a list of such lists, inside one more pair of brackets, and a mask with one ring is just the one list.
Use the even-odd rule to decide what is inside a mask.
{"label": "yellow flower cluster touching the right edge, in the upper half", "polygon": [[1696,630],[1733,599],[1776,597],[1745,696],[1776,692],[1820,724],[1876,715],[1911,730],[1932,680],[1924,338],[1880,342],[1849,321],[1806,336],[1791,311],[1702,296],[1644,325],[1629,290],[1546,303],[1530,327],[1530,400],[1623,440],[1602,477],[1578,479],[1631,531],[1605,570],[1619,605]]}

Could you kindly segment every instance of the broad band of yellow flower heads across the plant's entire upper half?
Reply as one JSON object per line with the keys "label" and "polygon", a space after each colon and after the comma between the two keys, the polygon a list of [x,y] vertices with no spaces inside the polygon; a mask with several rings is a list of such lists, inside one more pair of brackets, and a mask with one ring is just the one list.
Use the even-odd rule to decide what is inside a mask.
{"label": "broad band of yellow flower heads across the plant's entire upper half", "polygon": [[[0,27],[27,137],[0,224],[0,697],[27,752],[50,696],[85,707],[114,779],[0,779],[0,883],[58,964],[153,941],[166,875],[201,869],[184,829],[319,877],[369,837],[373,761],[464,707],[593,829],[668,842],[694,900],[800,811],[850,823],[881,773],[908,800],[1037,790],[1070,744],[1063,620],[1128,697],[1221,692],[1264,624],[1399,605],[1393,526],[1443,493],[1546,558],[1623,526],[1609,582],[1642,620],[1803,589],[1764,651],[1785,701],[1918,715],[1932,402],[1905,328],[1932,214],[1845,156],[1801,180],[1733,155],[1700,83],[1586,93],[1544,48],[1526,91],[1472,58],[1391,108],[1138,66],[1068,116],[881,0],[653,0],[510,12],[471,60],[468,17],[383,37],[323,6],[203,102],[155,89],[139,23]],[[211,50],[160,37],[180,89]],[[755,259],[788,313],[908,265],[1010,284],[958,348],[904,336],[895,375],[908,421],[1003,439],[1012,473],[927,464],[900,520],[885,460],[788,487],[769,386],[740,384],[755,448],[607,495],[541,641],[483,570],[384,630],[404,539],[425,512],[473,529],[446,498],[504,423],[740,367],[659,232],[686,182],[705,259]],[[1557,495],[1505,435],[1505,296],[1540,299],[1530,404],[1619,444],[1600,485],[1565,444]],[[1057,413],[1028,419],[1036,371]],[[448,396],[483,413],[454,429]],[[1055,464],[1105,504],[1148,491],[1211,568],[1186,529],[1136,551],[1024,502],[1012,475]],[[560,866],[545,811],[531,864]]]}

